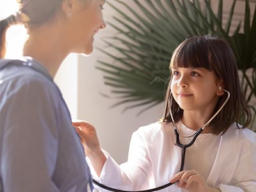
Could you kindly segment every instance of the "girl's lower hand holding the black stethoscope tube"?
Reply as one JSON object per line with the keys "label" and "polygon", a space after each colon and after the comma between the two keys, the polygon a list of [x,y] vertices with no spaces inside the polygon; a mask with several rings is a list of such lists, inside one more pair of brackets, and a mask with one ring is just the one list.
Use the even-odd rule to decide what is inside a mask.
{"label": "girl's lower hand holding the black stethoscope tube", "polygon": [[179,180],[178,186],[187,189],[189,192],[220,192],[220,189],[209,186],[202,175],[196,170],[186,170],[175,174],[170,182]]}

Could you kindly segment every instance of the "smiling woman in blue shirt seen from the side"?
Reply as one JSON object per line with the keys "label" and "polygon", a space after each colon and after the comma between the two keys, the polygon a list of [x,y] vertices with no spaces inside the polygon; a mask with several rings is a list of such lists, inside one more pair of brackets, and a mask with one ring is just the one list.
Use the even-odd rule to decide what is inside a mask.
{"label": "smiling woman in blue shirt seen from the side", "polygon": [[[70,52],[90,54],[104,0],[21,0],[0,22],[0,191],[92,189],[83,147],[54,84]],[[4,60],[8,26],[24,23],[24,57]]]}

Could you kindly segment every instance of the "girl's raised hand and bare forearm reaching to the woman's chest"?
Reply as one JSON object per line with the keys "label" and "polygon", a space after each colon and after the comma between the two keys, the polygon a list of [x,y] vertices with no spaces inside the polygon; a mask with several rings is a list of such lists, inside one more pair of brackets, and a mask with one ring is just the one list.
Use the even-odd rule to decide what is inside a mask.
{"label": "girl's raised hand and bare forearm reaching to the woman's chest", "polygon": [[73,120],[72,124],[81,138],[86,156],[90,159],[97,175],[100,176],[100,172],[106,162],[106,156],[100,148],[95,127],[81,120]]}

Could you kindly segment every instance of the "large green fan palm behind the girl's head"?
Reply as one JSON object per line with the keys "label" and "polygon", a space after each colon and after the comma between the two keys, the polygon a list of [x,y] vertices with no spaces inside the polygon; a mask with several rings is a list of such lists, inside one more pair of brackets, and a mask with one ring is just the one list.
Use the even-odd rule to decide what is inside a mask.
{"label": "large green fan palm behind the girl's head", "polygon": [[[249,0],[244,2],[244,20],[237,24],[233,33],[230,32],[230,26],[236,0],[232,2],[225,25],[222,0],[218,1],[217,13],[214,13],[210,0],[204,0],[204,6],[199,0],[145,0],[143,3],[147,7],[141,1],[132,0],[143,14],[134,11],[127,1],[115,1],[122,4],[127,12],[108,3],[122,17],[113,17],[118,25],[108,23],[118,33],[104,42],[118,51],[118,54],[100,49],[113,59],[113,63],[99,60],[97,66],[104,72],[105,84],[112,86],[112,92],[120,99],[113,106],[129,103],[130,106],[124,110],[145,106],[144,111],[163,102],[170,74],[170,57],[175,47],[188,36],[211,33],[227,40],[236,55],[237,67],[241,72],[241,86],[252,109],[255,125],[256,9],[251,19]],[[131,15],[136,19],[132,19]],[[243,117],[241,123],[243,124]],[[253,129],[252,127],[253,124],[250,128]]]}

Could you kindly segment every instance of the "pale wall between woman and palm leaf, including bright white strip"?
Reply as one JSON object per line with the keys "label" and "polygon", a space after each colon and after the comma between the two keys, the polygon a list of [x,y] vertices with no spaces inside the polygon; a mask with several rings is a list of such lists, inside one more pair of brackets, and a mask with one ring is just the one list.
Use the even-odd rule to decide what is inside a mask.
{"label": "pale wall between woman and palm leaf, including bright white strip", "polygon": [[[115,3],[109,0],[110,3]],[[116,4],[116,3],[115,3]],[[132,4],[131,4],[132,6]],[[112,22],[116,12],[104,5],[104,19]],[[95,47],[104,47],[102,38],[112,36],[113,29],[109,26],[95,36]],[[92,123],[99,136],[102,148],[107,150],[118,163],[127,159],[129,141],[132,132],[141,125],[147,125],[162,117],[164,104],[160,104],[140,116],[141,108],[129,110],[122,114],[125,106],[110,109],[116,99],[103,97],[101,93],[111,95],[111,87],[104,85],[103,72],[97,70],[97,60],[109,60],[102,52],[94,49],[89,57],[73,54],[62,63],[55,81],[60,86],[63,97],[70,109],[72,118],[86,120]],[[76,63],[78,61],[78,63]],[[77,90],[77,92],[76,92]]]}

